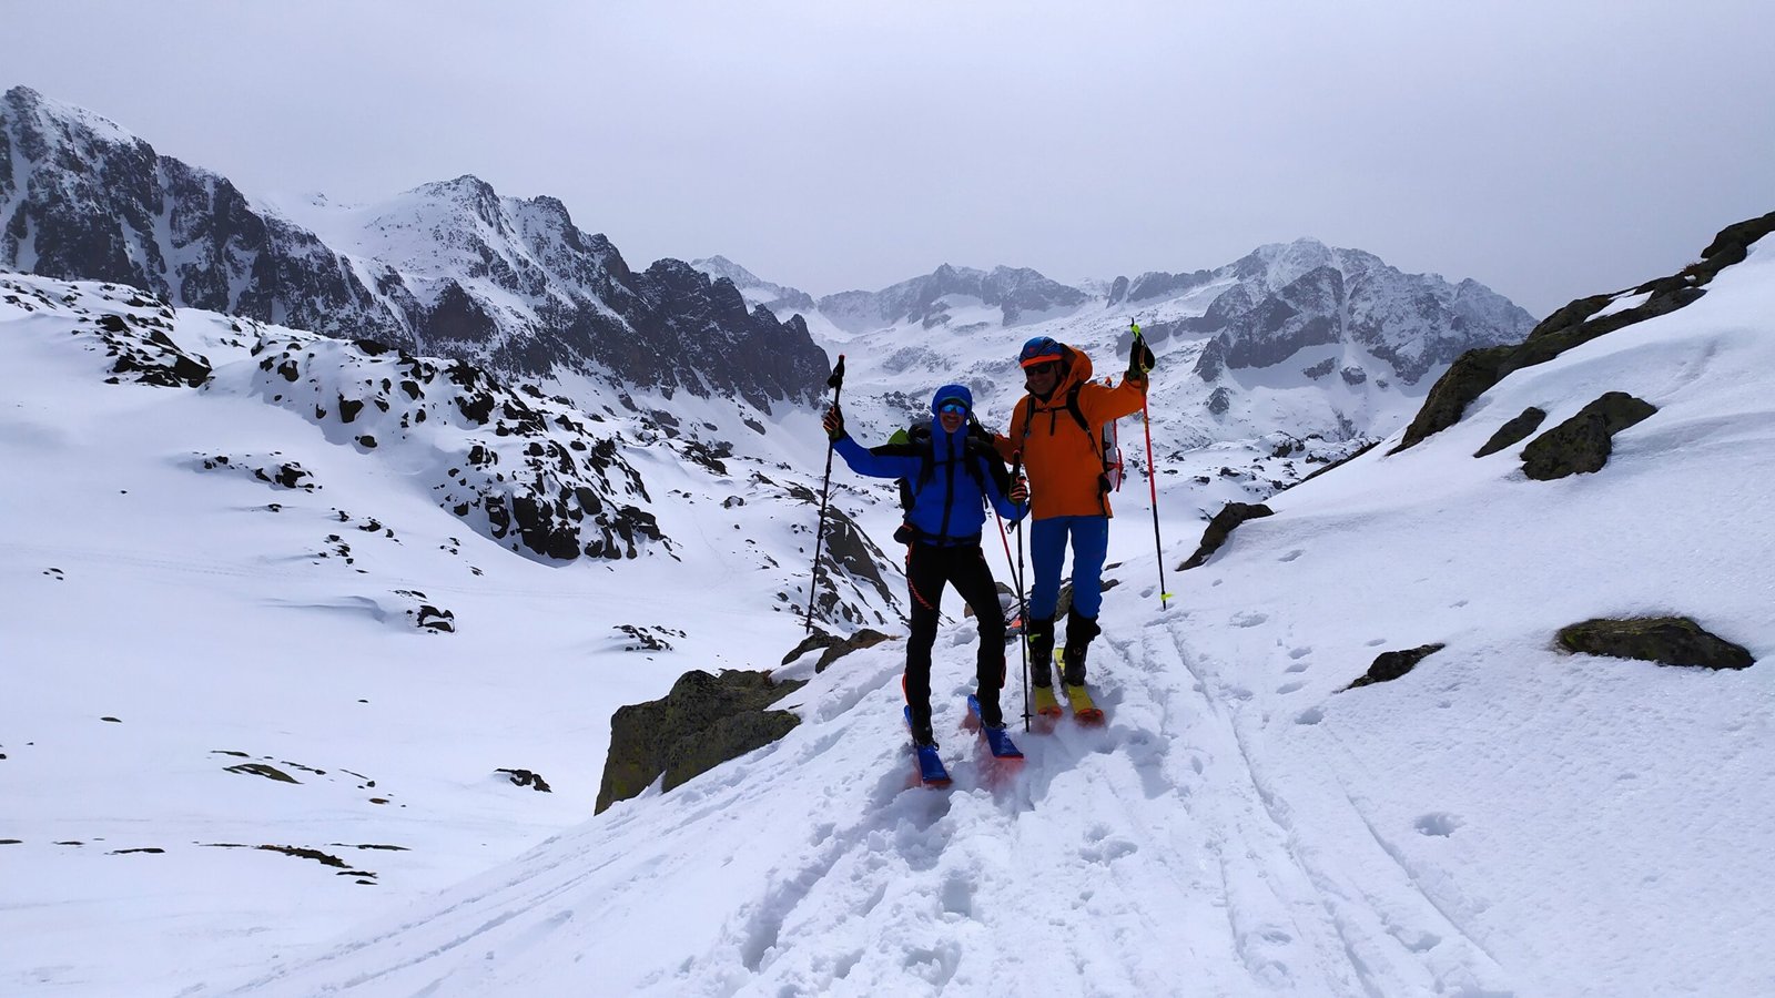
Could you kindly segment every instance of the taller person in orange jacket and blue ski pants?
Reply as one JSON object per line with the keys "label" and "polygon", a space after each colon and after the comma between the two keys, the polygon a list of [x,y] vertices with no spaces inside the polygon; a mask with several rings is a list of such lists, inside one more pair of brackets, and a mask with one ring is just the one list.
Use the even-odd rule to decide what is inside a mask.
{"label": "taller person in orange jacket and blue ski pants", "polygon": [[1054,607],[1060,602],[1060,565],[1072,540],[1072,609],[1067,613],[1065,675],[1085,684],[1092,638],[1102,634],[1102,568],[1109,547],[1109,478],[1104,469],[1106,423],[1140,412],[1147,401],[1152,350],[1140,339],[1127,376],[1109,387],[1092,382],[1092,359],[1081,350],[1038,336],[1017,357],[1030,394],[1017,401],[1010,433],[994,437],[1005,460],[1022,453],[1030,474],[1030,669],[1035,685],[1051,685],[1054,673]]}

